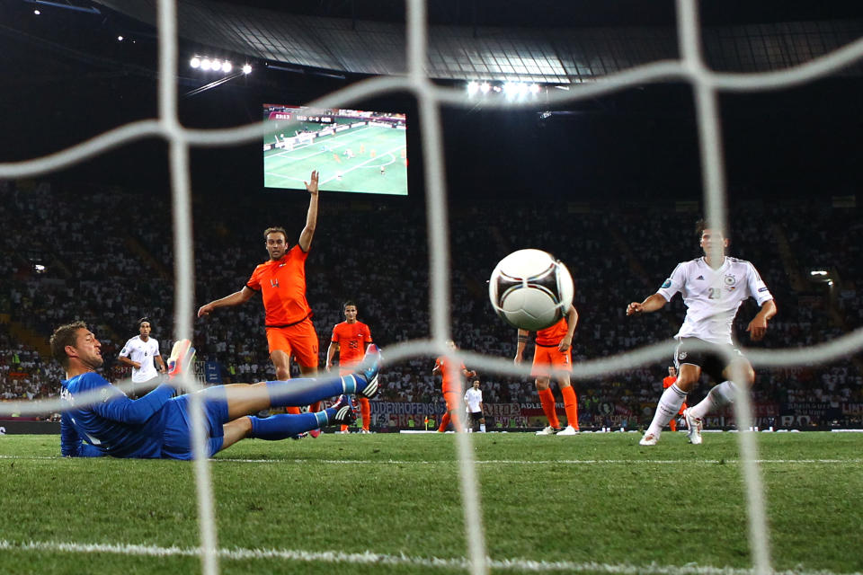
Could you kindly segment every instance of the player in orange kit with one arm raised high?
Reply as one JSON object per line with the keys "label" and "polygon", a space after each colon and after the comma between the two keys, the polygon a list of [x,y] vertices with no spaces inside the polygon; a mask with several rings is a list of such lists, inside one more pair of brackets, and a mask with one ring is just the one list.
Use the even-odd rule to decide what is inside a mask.
{"label": "player in orange kit with one arm raised high", "polygon": [[[210,314],[217,307],[240,305],[261,292],[266,312],[265,328],[276,379],[290,379],[290,358],[299,365],[305,377],[317,374],[317,334],[312,324],[312,310],[306,300],[306,259],[317,225],[317,171],[305,182],[309,193],[306,226],[299,234],[297,245],[288,249],[288,234],[282,227],[269,227],[263,232],[270,260],[254,269],[245,286],[230,296],[201,305],[198,317]],[[289,413],[299,413],[289,408]]]}

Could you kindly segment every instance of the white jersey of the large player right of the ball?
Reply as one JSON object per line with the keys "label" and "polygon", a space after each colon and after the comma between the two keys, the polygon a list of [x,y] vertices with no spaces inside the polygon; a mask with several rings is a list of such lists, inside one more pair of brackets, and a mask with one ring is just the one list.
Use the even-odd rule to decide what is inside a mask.
{"label": "white jersey of the large player right of the ball", "polygon": [[681,331],[674,338],[724,344],[732,342],[734,316],[744,300],[754,297],[763,305],[773,299],[752,263],[729,257],[718,270],[708,266],[703,257],[681,261],[657,293],[671,301],[678,292],[687,310]]}

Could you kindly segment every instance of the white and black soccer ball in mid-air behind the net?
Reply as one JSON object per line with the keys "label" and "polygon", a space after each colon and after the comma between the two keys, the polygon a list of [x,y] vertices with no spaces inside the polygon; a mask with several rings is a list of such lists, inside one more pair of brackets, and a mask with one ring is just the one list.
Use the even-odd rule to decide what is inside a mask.
{"label": "white and black soccer ball in mid-air behind the net", "polygon": [[529,332],[543,330],[569,313],[573,277],[542,250],[519,250],[501,260],[488,280],[488,297],[506,323]]}

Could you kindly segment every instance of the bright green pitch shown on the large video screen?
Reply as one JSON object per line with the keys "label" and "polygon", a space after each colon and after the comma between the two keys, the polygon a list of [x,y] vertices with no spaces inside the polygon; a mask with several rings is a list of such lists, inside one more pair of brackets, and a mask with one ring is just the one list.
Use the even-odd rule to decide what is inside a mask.
{"label": "bright green pitch shown on the large video screen", "polygon": [[[344,155],[351,149],[354,157]],[[292,151],[274,148],[264,153],[263,185],[305,189],[312,170],[321,173],[320,189],[392,195],[407,193],[405,130],[366,126],[316,138]],[[380,168],[384,167],[384,173]]]}

